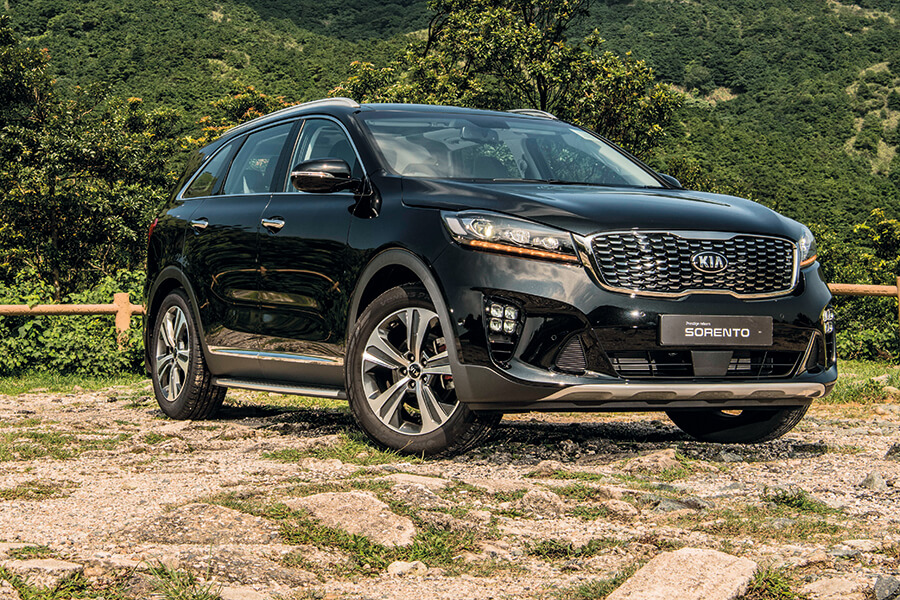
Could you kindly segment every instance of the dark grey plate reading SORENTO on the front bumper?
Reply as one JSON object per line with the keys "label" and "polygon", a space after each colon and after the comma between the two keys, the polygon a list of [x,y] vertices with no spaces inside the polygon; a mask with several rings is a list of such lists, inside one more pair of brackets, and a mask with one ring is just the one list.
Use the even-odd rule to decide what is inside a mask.
{"label": "dark grey plate reading SORENTO on the front bumper", "polygon": [[661,346],[771,346],[772,317],[660,315]]}

